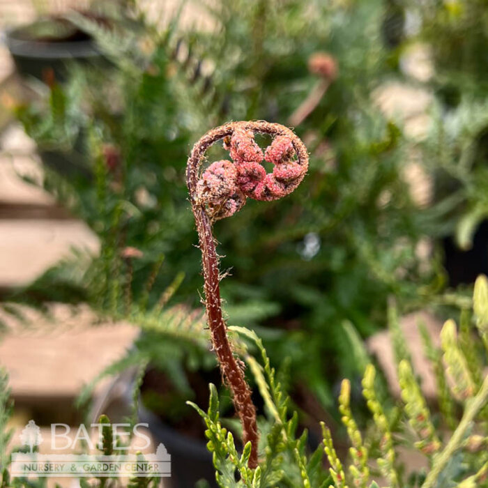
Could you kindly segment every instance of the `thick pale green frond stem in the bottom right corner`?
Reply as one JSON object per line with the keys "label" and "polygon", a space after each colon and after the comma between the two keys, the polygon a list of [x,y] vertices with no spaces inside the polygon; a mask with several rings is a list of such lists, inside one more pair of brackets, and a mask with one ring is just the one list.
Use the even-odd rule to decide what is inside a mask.
{"label": "thick pale green frond stem in the bottom right corner", "polygon": [[436,486],[437,478],[439,478],[439,475],[452,458],[452,455],[454,455],[456,450],[462,446],[462,442],[466,436],[466,431],[482,407],[486,405],[487,400],[488,376],[485,377],[485,381],[483,381],[478,394],[466,405],[466,411],[464,411],[461,422],[459,422],[459,425],[457,426],[454,434],[452,434],[448,444],[445,446],[444,450],[434,458],[434,465],[432,466],[432,470],[427,475],[427,478],[425,478],[422,488],[433,488]]}

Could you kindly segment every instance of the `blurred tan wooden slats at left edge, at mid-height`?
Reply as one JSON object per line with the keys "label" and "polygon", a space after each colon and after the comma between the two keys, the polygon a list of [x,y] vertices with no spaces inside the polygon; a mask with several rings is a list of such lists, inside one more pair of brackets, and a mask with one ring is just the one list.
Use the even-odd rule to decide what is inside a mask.
{"label": "blurred tan wooden slats at left edge, at mid-height", "polygon": [[0,139],[0,287],[28,284],[73,247],[97,253],[98,239],[41,188],[36,146],[17,125]]}

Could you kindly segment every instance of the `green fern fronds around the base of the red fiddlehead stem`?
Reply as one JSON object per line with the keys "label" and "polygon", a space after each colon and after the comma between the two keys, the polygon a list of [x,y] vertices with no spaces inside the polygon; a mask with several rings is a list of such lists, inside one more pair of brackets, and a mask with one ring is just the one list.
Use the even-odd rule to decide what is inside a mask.
{"label": "green fern fronds around the base of the red fiddlehead stem", "polygon": [[[254,362],[251,356],[245,355],[245,360],[261,377],[257,383],[259,391],[266,403],[269,422],[264,426],[264,445],[260,451],[264,452],[264,460],[255,470],[247,467],[250,445],[246,445],[243,454],[239,455],[234,443],[234,436],[222,427],[219,420],[219,402],[215,386],[211,385],[211,399],[208,412],[205,413],[192,402],[192,405],[204,419],[207,429],[207,448],[213,453],[215,477],[221,487],[270,487],[278,482],[280,486],[327,486],[328,476],[321,470],[323,449],[321,446],[311,455],[306,455],[307,432],[296,438],[298,415],[289,416],[287,395],[282,392],[280,383],[276,380],[275,370],[270,366],[264,346],[252,331],[241,327],[232,328],[247,340],[251,340],[261,355],[262,365]],[[247,349],[245,344],[241,347]],[[236,481],[238,473],[238,481]]]}

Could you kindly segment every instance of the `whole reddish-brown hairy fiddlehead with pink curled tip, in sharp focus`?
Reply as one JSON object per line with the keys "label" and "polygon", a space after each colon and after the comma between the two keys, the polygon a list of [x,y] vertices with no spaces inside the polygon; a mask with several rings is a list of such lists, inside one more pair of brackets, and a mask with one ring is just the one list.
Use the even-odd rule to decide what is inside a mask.
{"label": "whole reddish-brown hairy fiddlehead with pink curled tip, in sharp focus", "polygon": [[[254,133],[273,137],[264,155],[254,141]],[[201,174],[207,149],[222,139],[233,161],[213,162]],[[273,163],[272,173],[266,174],[260,164],[263,159]],[[208,131],[193,146],[187,163],[187,185],[202,256],[208,326],[213,349],[243,426],[243,441],[252,444],[250,468],[257,467],[256,409],[222,317],[219,264],[212,224],[236,213],[247,198],[271,201],[289,195],[303,180],[307,167],[307,148],[301,139],[284,125],[266,121],[231,122]]]}

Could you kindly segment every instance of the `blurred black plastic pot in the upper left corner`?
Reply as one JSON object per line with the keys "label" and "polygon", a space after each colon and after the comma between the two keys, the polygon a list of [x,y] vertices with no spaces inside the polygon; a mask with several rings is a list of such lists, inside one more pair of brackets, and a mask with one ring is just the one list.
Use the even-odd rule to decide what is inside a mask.
{"label": "blurred black plastic pot in the upper left corner", "polygon": [[64,39],[33,37],[30,31],[40,22],[49,20],[21,26],[6,33],[6,44],[15,67],[22,76],[33,76],[43,80],[49,73],[53,73],[56,79],[62,80],[66,77],[66,63],[95,62],[102,59],[95,41],[79,31],[66,35]]}

